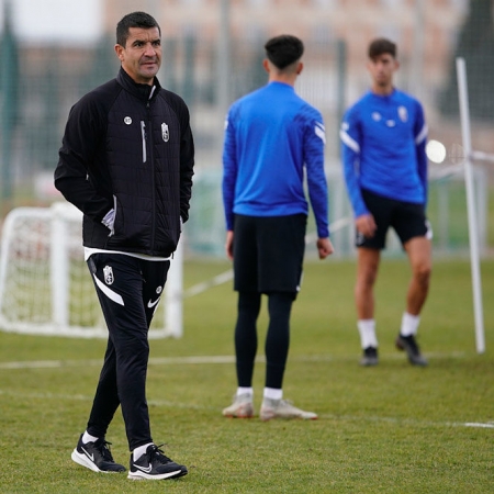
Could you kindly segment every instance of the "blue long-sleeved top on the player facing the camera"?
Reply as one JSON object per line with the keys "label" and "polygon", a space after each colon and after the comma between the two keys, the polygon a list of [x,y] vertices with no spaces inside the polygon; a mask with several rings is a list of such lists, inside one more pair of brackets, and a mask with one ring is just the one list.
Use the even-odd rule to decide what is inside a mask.
{"label": "blue long-sleeved top on the player facing the camera", "polygon": [[345,114],[341,157],[355,216],[367,214],[360,189],[427,203],[427,125],[420,103],[405,92],[366,93]]}

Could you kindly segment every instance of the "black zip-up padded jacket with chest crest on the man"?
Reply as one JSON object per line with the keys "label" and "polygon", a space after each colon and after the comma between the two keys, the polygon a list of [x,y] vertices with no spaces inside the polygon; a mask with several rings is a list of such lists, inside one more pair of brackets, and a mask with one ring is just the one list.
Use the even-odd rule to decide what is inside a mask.
{"label": "black zip-up padded jacket with chest crest on the man", "polygon": [[[166,257],[189,217],[193,165],[183,100],[121,68],[71,108],[55,187],[82,211],[86,247]],[[101,223],[112,207],[114,234]]]}

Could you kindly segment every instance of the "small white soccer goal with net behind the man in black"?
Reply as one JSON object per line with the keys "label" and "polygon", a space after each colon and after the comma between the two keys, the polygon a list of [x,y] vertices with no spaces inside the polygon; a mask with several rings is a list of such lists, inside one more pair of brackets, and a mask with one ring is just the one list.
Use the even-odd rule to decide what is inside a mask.
{"label": "small white soccer goal with net behind the man in black", "polygon": [[[83,260],[82,213],[69,203],[18,207],[5,217],[0,251],[0,327],[5,332],[106,337]],[[181,249],[156,312],[150,338],[180,337]],[[167,307],[168,306],[168,307]]]}

